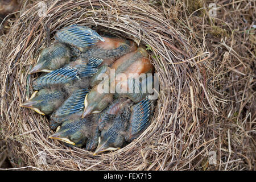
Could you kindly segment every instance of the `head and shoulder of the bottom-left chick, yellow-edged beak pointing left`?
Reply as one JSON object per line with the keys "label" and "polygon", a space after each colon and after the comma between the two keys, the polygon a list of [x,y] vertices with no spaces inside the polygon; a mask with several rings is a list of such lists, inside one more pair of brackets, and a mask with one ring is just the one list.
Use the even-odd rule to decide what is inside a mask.
{"label": "head and shoulder of the bottom-left chick, yellow-edged beak pointing left", "polygon": [[93,151],[98,145],[100,131],[97,126],[97,115],[93,117],[80,118],[80,114],[73,114],[72,117],[57,127],[56,133],[49,136],[58,139],[72,146],[82,147],[86,145],[86,150]]}

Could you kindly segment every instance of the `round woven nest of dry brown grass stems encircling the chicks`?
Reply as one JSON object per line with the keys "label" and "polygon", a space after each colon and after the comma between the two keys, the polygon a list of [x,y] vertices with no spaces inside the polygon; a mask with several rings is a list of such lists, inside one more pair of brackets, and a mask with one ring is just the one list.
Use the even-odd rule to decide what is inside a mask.
{"label": "round woven nest of dry brown grass stems encircling the chicks", "polygon": [[[219,131],[215,131],[214,114],[225,104],[218,99],[221,96],[216,90],[207,87],[207,84],[213,85],[210,88],[221,85],[206,80],[210,77],[213,80],[216,75],[212,72],[204,38],[194,36],[180,20],[181,16],[191,18],[184,13],[183,2],[163,4],[162,1],[47,0],[23,5],[0,50],[1,135],[14,167],[170,170],[207,166],[216,169],[216,165],[209,167],[210,151],[222,152],[222,156],[234,155],[228,147],[221,151],[219,143],[216,144],[220,138],[216,137]],[[46,117],[19,107],[33,93],[31,83],[38,75],[28,72],[40,50],[53,42],[57,30],[72,24],[146,46],[159,75],[158,102],[150,126],[120,150],[93,156],[93,152],[82,148],[66,147],[48,138],[53,131]],[[206,68],[211,71],[206,73]],[[251,165],[250,161],[251,158],[245,159],[246,164]]]}

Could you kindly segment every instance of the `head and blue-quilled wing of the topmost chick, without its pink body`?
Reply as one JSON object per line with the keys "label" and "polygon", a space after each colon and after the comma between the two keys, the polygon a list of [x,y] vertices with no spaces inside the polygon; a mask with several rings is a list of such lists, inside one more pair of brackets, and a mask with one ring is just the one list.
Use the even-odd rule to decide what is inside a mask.
{"label": "head and blue-quilled wing of the topmost chick, without its pink body", "polygon": [[[71,56],[76,53],[73,48],[85,50],[89,46],[104,41],[97,32],[84,26],[65,27],[56,33],[58,43],[50,47],[44,48],[38,57],[35,67],[29,72],[51,72],[55,69],[63,67],[71,61]],[[72,48],[73,47],[73,48]]]}

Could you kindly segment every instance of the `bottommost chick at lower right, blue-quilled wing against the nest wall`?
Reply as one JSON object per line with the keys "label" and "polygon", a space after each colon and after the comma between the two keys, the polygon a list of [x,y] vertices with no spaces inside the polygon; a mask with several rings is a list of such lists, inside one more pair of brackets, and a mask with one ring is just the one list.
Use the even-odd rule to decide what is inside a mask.
{"label": "bottommost chick at lower right, blue-quilled wing against the nest wall", "polygon": [[[122,105],[122,104],[121,104]],[[125,142],[131,142],[147,128],[152,115],[152,102],[146,98],[131,109],[124,104],[114,119],[99,125],[101,137],[93,155],[104,151],[118,150]]]}

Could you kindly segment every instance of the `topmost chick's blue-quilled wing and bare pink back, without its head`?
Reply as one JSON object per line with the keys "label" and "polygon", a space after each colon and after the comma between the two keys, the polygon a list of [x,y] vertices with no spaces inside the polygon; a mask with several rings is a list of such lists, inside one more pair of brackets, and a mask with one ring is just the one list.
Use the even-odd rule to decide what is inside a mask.
{"label": "topmost chick's blue-quilled wing and bare pink back, without its head", "polygon": [[80,51],[74,50],[73,55],[104,59],[103,64],[107,65],[137,49],[136,44],[130,40],[100,36],[92,29],[77,24],[57,31],[56,39]]}

